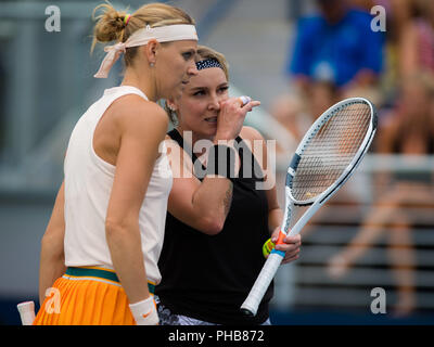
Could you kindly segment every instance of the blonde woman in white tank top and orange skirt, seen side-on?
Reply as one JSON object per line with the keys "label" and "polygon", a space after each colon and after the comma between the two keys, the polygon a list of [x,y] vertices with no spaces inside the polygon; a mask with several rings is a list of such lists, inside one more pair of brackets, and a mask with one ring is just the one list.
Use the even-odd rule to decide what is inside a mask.
{"label": "blonde woman in white tank top and orange skirt, seen side-on", "polygon": [[110,4],[95,10],[103,13],[94,42],[116,41],[95,77],[106,77],[122,54],[125,76],[71,136],[41,242],[43,304],[34,324],[158,323],[153,291],[173,176],[158,151],[168,119],[155,102],[196,74],[197,36],[193,20],[170,5],[131,15]]}

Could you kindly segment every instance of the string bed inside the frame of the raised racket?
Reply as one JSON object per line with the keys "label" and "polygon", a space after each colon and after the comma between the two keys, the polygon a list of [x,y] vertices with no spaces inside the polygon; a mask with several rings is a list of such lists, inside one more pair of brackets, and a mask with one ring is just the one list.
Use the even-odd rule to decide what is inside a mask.
{"label": "string bed inside the frame of the raised racket", "polygon": [[307,141],[292,183],[297,201],[316,197],[348,167],[367,134],[371,110],[354,103],[336,110]]}

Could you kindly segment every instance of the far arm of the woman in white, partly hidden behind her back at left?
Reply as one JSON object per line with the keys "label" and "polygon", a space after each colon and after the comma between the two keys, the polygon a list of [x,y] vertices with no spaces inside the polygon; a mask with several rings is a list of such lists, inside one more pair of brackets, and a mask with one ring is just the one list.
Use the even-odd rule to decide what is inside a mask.
{"label": "far arm of the woman in white, partly hidden behind her back at left", "polygon": [[39,304],[42,305],[46,291],[51,287],[54,281],[65,273],[65,183],[58,192],[50,221],[41,241],[41,254],[39,266]]}

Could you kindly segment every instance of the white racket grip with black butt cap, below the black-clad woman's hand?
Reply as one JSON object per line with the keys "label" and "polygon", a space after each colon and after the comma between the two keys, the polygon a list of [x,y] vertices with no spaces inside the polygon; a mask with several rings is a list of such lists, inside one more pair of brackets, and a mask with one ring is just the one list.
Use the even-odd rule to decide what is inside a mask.
{"label": "white racket grip with black butt cap, below the black-clad woman's hand", "polygon": [[272,250],[265,262],[263,270],[255,281],[247,298],[241,305],[241,311],[246,316],[256,316],[257,308],[264,297],[265,292],[275,278],[276,271],[283,260],[284,253]]}

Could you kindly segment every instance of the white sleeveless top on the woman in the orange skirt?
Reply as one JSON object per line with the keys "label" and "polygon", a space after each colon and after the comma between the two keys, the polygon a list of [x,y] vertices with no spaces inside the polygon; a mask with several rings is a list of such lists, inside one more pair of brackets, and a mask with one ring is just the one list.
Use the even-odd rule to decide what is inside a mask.
{"label": "white sleeveless top on the woman in the orange skirt", "polygon": [[[113,269],[105,239],[105,216],[116,167],[103,160],[93,149],[93,132],[107,107],[118,98],[137,94],[129,86],[106,89],[76,124],[69,139],[65,164],[65,265],[103,266]],[[156,159],[139,215],[142,250],[148,281],[158,284],[157,267],[163,247],[167,198],[173,175],[164,141]]]}

